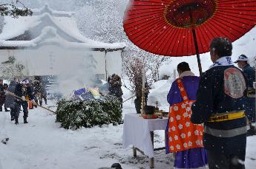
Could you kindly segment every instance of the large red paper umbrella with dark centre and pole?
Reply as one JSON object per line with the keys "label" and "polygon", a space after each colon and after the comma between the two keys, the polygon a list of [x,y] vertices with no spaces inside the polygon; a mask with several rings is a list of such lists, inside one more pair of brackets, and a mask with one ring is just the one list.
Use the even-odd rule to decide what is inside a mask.
{"label": "large red paper umbrella with dark centre and pole", "polygon": [[213,38],[235,41],[256,24],[256,0],[131,0],[123,21],[128,38],[157,55],[209,52]]}

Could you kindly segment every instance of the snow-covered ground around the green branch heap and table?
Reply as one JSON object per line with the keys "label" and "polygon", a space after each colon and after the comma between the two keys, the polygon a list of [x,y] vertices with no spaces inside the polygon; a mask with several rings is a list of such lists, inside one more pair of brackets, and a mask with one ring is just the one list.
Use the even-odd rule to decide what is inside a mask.
{"label": "snow-covered ground around the green branch heap and table", "polygon": [[[157,98],[160,87],[168,88],[170,81],[154,84],[151,90]],[[168,90],[168,89],[166,89]],[[130,93],[123,89],[124,100]],[[163,100],[163,98],[160,100]],[[164,100],[163,100],[164,101]],[[153,102],[153,101],[152,101]],[[52,108],[50,102],[48,107]],[[163,103],[162,108],[166,108]],[[124,103],[123,114],[135,113],[133,100]],[[96,169],[110,167],[119,162],[124,169],[149,168],[148,157],[138,153],[132,156],[131,148],[122,148],[123,125],[105,125],[102,128],[80,128],[76,131],[60,128],[56,116],[42,108],[29,111],[28,124],[23,124],[20,114],[19,125],[10,121],[10,112],[0,112],[0,138],[9,137],[7,145],[0,143],[0,169]],[[246,168],[256,165],[256,137],[248,137]],[[155,145],[164,145],[163,131],[155,132]],[[155,168],[172,168],[173,156],[165,151],[155,153]]]}

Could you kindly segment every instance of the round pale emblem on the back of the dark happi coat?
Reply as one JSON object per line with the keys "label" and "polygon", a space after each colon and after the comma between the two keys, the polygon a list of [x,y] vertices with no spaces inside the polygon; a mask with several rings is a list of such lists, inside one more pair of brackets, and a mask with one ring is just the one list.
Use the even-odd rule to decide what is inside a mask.
{"label": "round pale emblem on the back of the dark happi coat", "polygon": [[240,98],[246,90],[246,80],[242,72],[235,68],[226,69],[224,72],[225,94],[232,98]]}

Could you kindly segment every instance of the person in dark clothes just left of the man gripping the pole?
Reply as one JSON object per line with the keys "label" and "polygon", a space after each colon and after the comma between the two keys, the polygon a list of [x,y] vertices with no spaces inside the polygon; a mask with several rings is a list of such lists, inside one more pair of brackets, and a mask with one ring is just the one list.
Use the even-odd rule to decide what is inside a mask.
{"label": "person in dark clothes just left of the man gripping the pole", "polygon": [[[7,91],[14,93],[15,92],[16,81],[10,81],[10,85],[7,88]],[[11,94],[6,94],[4,106],[6,108],[10,108],[10,120],[13,121],[15,119],[14,112],[14,100],[15,97]]]}

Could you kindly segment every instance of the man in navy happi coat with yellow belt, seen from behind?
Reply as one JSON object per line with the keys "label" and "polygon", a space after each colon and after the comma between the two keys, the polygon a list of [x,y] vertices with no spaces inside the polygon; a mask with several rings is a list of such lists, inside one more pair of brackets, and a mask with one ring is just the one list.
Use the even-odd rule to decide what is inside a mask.
{"label": "man in navy happi coat with yellow belt, seen from behind", "polygon": [[200,78],[191,122],[204,123],[203,146],[210,169],[244,169],[246,77],[232,62],[228,38],[214,38],[210,55],[213,65]]}

